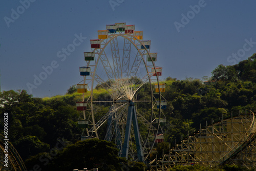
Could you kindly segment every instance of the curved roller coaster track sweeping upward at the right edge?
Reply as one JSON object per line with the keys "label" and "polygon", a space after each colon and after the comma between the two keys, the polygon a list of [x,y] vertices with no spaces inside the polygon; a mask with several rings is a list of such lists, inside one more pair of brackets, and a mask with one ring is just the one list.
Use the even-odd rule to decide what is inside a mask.
{"label": "curved roller coaster track sweeping upward at the right edge", "polygon": [[247,132],[250,131],[248,137],[240,145],[238,145],[234,150],[230,151],[225,156],[223,156],[220,159],[220,161],[223,160],[227,156],[229,156],[229,157],[227,159],[225,159],[224,161],[222,161],[219,165],[228,164],[228,162],[230,160],[237,157],[239,155],[239,153],[242,152],[243,149],[245,149],[248,145],[250,145],[251,142],[256,138],[256,119],[255,119],[255,115],[253,112],[252,112],[252,115],[253,115],[252,123],[250,125],[249,130],[247,131]]}

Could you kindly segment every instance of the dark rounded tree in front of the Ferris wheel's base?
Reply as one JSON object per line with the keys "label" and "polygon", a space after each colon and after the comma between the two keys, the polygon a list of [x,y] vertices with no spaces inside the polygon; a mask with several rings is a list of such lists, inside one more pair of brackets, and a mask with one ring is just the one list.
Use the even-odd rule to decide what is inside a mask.
{"label": "dark rounded tree in front of the Ferris wheel's base", "polygon": [[[30,161],[31,162],[31,161]],[[60,164],[61,163],[61,164]],[[46,170],[73,170],[84,167],[99,170],[121,170],[124,158],[118,156],[118,149],[112,142],[90,139],[68,145],[55,156]]]}

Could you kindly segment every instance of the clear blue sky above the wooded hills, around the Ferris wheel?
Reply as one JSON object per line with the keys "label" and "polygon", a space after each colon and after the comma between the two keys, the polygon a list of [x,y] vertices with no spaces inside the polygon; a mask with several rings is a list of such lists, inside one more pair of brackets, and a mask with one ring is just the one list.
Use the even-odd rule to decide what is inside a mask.
{"label": "clear blue sky above the wooded hills, around the Ferris wheel", "polygon": [[[116,6],[112,8],[110,2]],[[96,39],[97,30],[105,30],[105,25],[121,22],[135,25],[144,31],[144,40],[151,40],[151,52],[158,53],[156,64],[163,67],[162,80],[211,76],[218,65],[233,65],[256,53],[255,7],[253,0],[2,1],[2,91],[28,91],[34,75],[56,61],[55,69],[32,94],[65,94],[81,80],[78,68],[86,65],[83,52],[91,51],[90,39]],[[57,53],[73,44],[75,34],[87,38],[61,61]]]}

